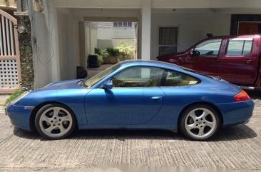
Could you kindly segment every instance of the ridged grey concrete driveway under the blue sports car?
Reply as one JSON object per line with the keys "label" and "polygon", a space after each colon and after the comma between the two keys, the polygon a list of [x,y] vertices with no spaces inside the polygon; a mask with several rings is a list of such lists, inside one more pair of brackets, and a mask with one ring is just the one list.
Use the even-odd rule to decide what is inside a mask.
{"label": "ridged grey concrete driveway under the blue sports car", "polygon": [[208,142],[169,131],[104,130],[46,141],[11,126],[0,109],[0,171],[261,171],[261,94],[250,95],[251,121]]}

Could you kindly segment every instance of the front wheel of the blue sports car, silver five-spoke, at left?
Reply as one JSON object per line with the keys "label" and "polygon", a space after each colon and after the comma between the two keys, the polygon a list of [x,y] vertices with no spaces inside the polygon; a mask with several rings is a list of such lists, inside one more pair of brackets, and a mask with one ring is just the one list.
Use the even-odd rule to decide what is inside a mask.
{"label": "front wheel of the blue sports car, silver five-spoke, at left", "polygon": [[76,118],[66,106],[47,104],[36,113],[35,126],[44,138],[61,139],[73,132]]}

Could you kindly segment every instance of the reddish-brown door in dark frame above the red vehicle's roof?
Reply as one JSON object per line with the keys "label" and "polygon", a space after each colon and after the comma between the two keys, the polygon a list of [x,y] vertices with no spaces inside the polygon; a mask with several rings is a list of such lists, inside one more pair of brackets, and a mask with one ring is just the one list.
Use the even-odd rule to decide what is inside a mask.
{"label": "reddish-brown door in dark frame above the red vehicle's roof", "polygon": [[261,34],[261,24],[255,22],[240,22],[238,34]]}

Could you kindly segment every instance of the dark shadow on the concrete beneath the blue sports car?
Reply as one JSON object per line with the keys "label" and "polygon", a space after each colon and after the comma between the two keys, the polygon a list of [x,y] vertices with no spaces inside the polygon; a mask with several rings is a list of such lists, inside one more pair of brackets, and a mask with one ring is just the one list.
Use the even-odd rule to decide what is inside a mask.
{"label": "dark shadow on the concrete beneath the blue sports car", "polygon": [[[23,131],[14,128],[14,135],[21,138],[40,139],[47,141],[38,133]],[[233,141],[246,138],[255,138],[257,133],[245,124],[222,128],[218,134],[210,141]],[[186,140],[180,133],[160,130],[85,130],[75,131],[68,139],[118,139],[125,141],[128,139],[153,139],[153,140]]]}

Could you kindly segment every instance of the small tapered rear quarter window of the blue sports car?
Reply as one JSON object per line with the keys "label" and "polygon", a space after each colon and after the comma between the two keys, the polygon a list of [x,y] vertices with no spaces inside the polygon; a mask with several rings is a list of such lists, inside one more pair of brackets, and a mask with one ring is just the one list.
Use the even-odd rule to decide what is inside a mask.
{"label": "small tapered rear quarter window of the blue sports car", "polygon": [[182,74],[178,71],[166,71],[167,76],[163,86],[188,86],[200,83],[198,79],[192,76]]}

